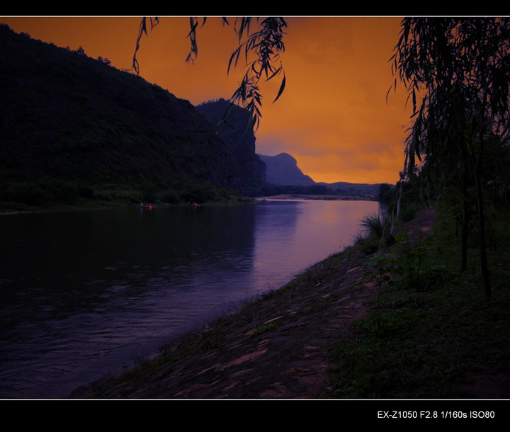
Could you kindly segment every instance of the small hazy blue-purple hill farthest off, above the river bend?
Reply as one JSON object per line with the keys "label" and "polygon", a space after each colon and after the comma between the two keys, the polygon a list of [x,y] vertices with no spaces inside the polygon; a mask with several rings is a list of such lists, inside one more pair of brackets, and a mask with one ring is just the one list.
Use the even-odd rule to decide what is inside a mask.
{"label": "small hazy blue-purple hill farthest off, above the river bend", "polygon": [[261,159],[266,162],[266,181],[275,185],[312,186],[315,182],[302,173],[297,167],[297,161],[287,153],[280,153],[276,156],[263,156]]}

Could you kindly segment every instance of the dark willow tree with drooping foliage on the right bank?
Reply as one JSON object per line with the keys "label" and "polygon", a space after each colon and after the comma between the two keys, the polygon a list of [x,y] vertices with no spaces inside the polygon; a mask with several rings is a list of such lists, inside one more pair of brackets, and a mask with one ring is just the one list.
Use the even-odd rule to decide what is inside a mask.
{"label": "dark willow tree with drooping foliage on the right bank", "polygon": [[480,266],[490,297],[482,166],[487,137],[509,137],[510,19],[404,18],[392,60],[413,105],[404,174],[419,166],[422,186],[443,186],[455,174],[463,202],[467,181],[475,179]]}

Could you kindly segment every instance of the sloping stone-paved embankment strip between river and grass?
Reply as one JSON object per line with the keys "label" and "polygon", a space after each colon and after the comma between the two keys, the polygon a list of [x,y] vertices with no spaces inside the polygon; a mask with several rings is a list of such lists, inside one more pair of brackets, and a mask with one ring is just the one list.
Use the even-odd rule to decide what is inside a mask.
{"label": "sloping stone-paved embankment strip between river and grass", "polygon": [[[431,229],[422,211],[401,229]],[[162,348],[152,360],[76,390],[76,399],[321,399],[331,397],[329,350],[356,341],[377,289],[367,256],[349,249],[288,285]]]}

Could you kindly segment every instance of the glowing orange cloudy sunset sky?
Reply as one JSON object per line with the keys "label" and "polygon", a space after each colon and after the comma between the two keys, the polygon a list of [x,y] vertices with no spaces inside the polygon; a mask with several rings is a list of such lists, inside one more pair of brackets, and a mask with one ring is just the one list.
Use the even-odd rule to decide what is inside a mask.
{"label": "glowing orange cloudy sunset sky", "polygon": [[[397,44],[399,17],[289,17],[283,67],[287,84],[264,86],[256,152],[292,154],[314,181],[395,183],[404,161],[407,95],[393,83],[388,60]],[[162,17],[137,56],[140,75],[193,104],[229,98],[243,74],[227,76],[237,46],[234,18],[222,27],[208,18],[198,30],[198,59],[186,64],[188,17]],[[84,48],[129,69],[140,17],[10,17],[0,16],[17,33]]]}

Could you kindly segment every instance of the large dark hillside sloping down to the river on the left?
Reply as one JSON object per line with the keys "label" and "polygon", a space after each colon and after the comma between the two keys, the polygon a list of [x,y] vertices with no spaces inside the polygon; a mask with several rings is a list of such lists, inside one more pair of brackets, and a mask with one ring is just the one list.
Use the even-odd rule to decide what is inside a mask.
{"label": "large dark hillside sloping down to the river on the left", "polygon": [[242,192],[236,159],[188,101],[6,25],[0,59],[0,202]]}

